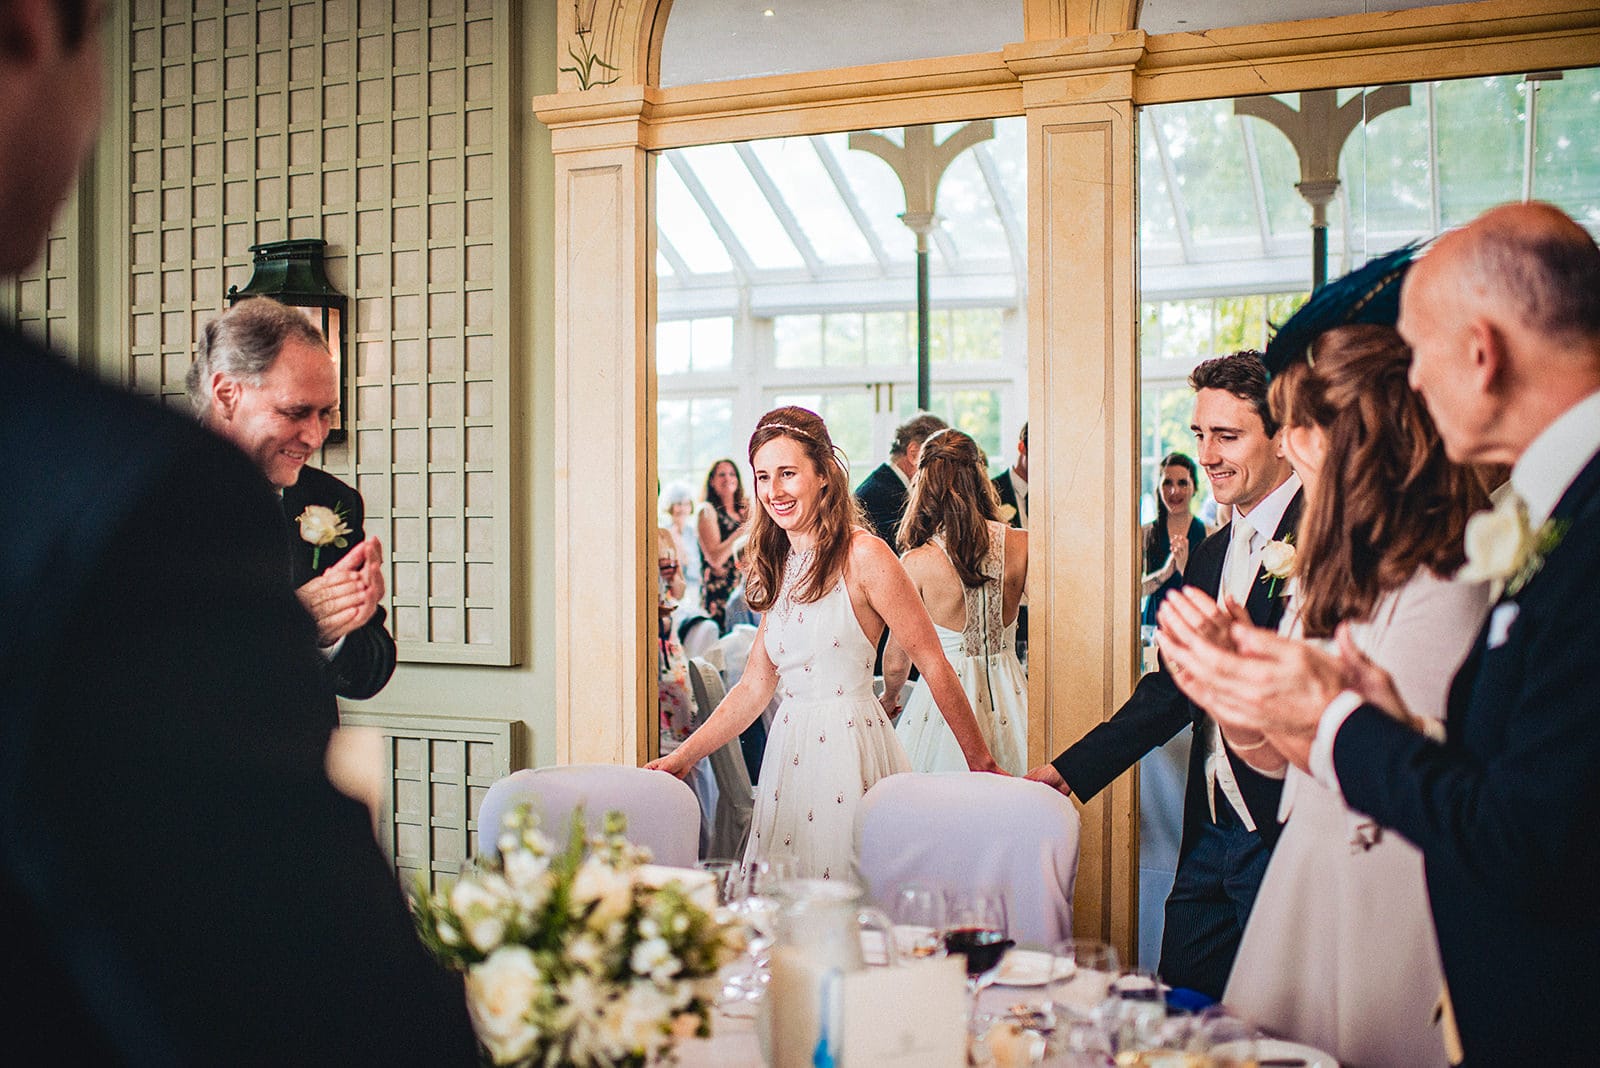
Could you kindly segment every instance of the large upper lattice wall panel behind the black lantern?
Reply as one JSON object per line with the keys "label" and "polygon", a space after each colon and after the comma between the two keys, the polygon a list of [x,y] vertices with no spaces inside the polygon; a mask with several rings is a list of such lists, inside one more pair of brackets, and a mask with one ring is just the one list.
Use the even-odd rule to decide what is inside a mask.
{"label": "large upper lattice wall panel behind the black lantern", "polygon": [[136,0],[131,381],[176,401],[250,245],[328,241],[402,660],[512,664],[510,43],[490,0]]}

